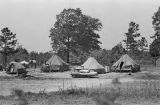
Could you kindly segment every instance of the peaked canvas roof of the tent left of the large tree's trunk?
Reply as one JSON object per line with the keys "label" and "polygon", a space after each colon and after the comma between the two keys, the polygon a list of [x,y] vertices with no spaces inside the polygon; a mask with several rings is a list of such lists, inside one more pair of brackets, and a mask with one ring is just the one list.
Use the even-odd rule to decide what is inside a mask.
{"label": "peaked canvas roof of the tent left of the large tree's trunk", "polygon": [[47,62],[46,64],[49,65],[57,65],[57,66],[62,66],[62,65],[68,65],[65,61],[63,61],[59,56],[53,55]]}

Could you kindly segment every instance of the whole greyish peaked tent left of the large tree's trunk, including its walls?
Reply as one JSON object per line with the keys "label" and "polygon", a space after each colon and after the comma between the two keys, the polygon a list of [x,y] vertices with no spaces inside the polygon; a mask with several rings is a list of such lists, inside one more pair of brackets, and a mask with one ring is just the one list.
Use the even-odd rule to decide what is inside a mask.
{"label": "whole greyish peaked tent left of the large tree's trunk, including its walls", "polygon": [[69,69],[69,64],[63,61],[59,56],[53,55],[47,62],[52,70],[66,71]]}

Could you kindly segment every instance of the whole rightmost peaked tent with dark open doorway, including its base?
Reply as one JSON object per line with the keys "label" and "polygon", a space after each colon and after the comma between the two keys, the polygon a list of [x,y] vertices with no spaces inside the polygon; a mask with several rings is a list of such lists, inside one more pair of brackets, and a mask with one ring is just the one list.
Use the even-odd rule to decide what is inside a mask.
{"label": "whole rightmost peaked tent with dark open doorway, including its base", "polygon": [[121,58],[112,65],[112,69],[114,69],[115,71],[119,71],[119,70],[120,71],[131,71],[132,69],[140,70],[140,68],[137,68],[136,65],[138,64],[132,58],[130,58],[127,54],[125,54],[125,55],[122,55]]}

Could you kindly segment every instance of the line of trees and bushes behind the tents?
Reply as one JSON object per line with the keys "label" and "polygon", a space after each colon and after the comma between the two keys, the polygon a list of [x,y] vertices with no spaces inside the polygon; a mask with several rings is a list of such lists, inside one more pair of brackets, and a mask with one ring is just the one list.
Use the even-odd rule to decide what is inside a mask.
{"label": "line of trees and bushes behind the tents", "polygon": [[[70,64],[82,64],[88,56],[95,57],[102,65],[112,65],[122,54],[127,53],[139,63],[145,60],[154,61],[160,56],[160,7],[152,16],[152,25],[155,31],[151,35],[153,42],[148,45],[145,35],[139,32],[139,24],[131,21],[124,33],[124,40],[118,42],[112,49],[100,47],[100,34],[103,24],[98,18],[82,13],[80,8],[64,9],[56,15],[56,22],[50,29],[49,38],[53,51]],[[37,60],[38,65],[45,63],[53,53],[28,52],[27,49],[17,45],[16,34],[8,27],[1,30],[0,53],[3,65],[19,59],[29,61]]]}

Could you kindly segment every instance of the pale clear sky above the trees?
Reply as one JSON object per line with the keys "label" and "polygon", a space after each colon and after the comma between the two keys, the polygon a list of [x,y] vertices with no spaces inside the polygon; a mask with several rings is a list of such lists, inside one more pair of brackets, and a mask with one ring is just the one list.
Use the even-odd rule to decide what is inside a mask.
{"label": "pale clear sky above the trees", "polygon": [[80,8],[100,19],[101,47],[111,49],[125,38],[131,21],[139,24],[139,32],[151,43],[152,16],[159,6],[160,0],[0,0],[0,29],[9,27],[28,51],[50,51],[49,30],[56,15],[65,8]]}

